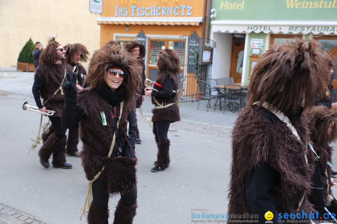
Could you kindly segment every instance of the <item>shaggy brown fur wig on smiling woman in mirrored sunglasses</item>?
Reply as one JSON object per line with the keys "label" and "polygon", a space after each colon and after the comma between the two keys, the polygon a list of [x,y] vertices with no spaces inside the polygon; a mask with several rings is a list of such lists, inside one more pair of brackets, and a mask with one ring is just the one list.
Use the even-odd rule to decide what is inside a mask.
{"label": "shaggy brown fur wig on smiling woman in mirrored sunglasses", "polygon": [[135,55],[121,51],[119,42],[110,41],[92,55],[89,63],[89,73],[86,82],[90,83],[90,88],[100,89],[105,83],[105,72],[113,67],[125,70],[126,76],[122,85],[127,87],[128,94],[136,94],[139,90],[139,75],[142,68],[139,66]]}

